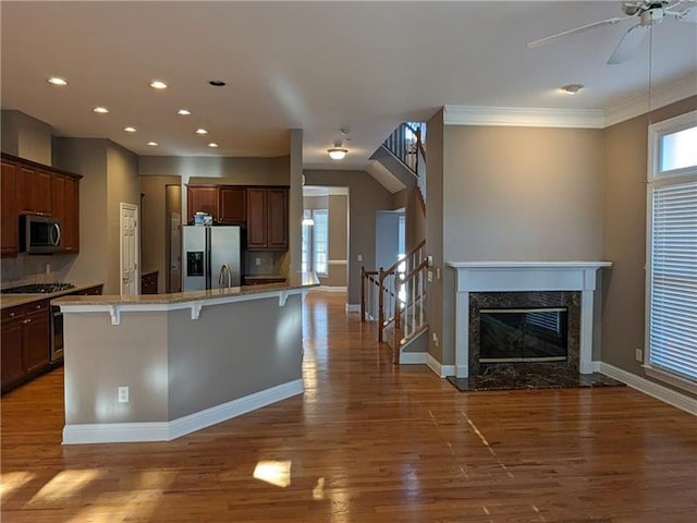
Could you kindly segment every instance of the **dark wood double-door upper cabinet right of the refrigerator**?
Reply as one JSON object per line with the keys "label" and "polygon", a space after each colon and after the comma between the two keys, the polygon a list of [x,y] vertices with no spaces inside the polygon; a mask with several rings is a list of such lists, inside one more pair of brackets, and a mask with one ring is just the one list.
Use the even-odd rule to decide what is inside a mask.
{"label": "dark wood double-door upper cabinet right of the refrigerator", "polygon": [[247,188],[247,248],[288,251],[288,188]]}

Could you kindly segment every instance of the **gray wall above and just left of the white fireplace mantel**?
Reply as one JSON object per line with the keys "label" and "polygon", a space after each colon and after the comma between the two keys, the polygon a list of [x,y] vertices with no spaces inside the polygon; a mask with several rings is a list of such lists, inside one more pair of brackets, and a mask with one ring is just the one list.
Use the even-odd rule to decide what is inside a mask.
{"label": "gray wall above and just left of the white fireplace mantel", "polygon": [[[429,150],[437,127],[429,125]],[[441,363],[452,364],[454,271],[443,262],[601,258],[603,135],[576,129],[442,129],[443,183],[429,185],[427,193],[429,231],[431,214],[442,212],[442,258],[436,257],[443,276],[442,316],[435,325],[442,329],[437,331]],[[428,170],[430,182],[436,178],[430,162]]]}

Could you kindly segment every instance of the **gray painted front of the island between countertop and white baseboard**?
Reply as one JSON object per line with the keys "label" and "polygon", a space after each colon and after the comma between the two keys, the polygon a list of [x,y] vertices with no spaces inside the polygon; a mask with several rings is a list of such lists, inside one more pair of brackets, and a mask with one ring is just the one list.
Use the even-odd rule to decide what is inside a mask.
{"label": "gray painted front of the island between countertop and white baseboard", "polygon": [[[164,422],[302,378],[301,296],[189,311],[65,314],[65,422]],[[230,336],[234,332],[234,336]],[[205,342],[203,343],[201,340]],[[130,402],[119,403],[120,386]]]}

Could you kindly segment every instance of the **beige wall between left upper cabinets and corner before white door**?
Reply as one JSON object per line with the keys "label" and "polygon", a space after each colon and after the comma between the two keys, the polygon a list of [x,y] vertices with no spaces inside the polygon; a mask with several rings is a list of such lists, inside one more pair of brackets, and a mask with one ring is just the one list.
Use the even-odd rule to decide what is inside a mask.
{"label": "beige wall between left upper cabinets and corner before white door", "polygon": [[65,280],[107,282],[106,139],[56,138],[54,165],[82,174],[80,181],[80,254]]}

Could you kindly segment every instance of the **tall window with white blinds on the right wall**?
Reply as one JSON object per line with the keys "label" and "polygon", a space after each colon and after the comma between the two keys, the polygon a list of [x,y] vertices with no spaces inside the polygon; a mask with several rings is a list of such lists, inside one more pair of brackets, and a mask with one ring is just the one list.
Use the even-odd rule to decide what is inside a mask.
{"label": "tall window with white blinds on the right wall", "polygon": [[647,374],[697,390],[697,111],[649,127]]}

